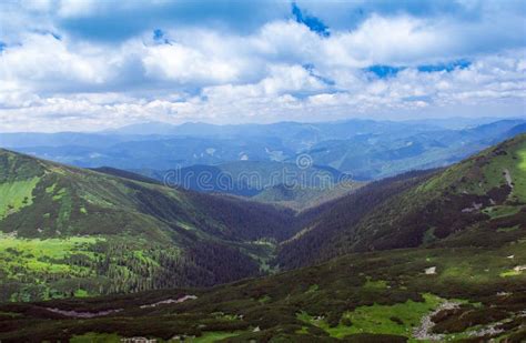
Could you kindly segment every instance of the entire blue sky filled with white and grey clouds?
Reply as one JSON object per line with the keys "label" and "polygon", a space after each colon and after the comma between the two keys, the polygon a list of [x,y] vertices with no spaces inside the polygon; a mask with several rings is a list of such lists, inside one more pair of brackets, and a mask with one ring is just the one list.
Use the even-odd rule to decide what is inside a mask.
{"label": "entire blue sky filled with white and grey clouds", "polygon": [[3,0],[0,132],[526,118],[522,0]]}

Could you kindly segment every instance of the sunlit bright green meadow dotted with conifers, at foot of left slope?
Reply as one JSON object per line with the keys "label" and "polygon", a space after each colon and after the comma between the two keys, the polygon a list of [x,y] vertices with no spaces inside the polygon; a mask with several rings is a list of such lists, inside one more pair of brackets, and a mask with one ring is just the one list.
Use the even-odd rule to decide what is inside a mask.
{"label": "sunlit bright green meadow dotted with conifers, at foot of left slope", "polygon": [[181,281],[171,273],[182,259],[174,246],[129,235],[24,239],[0,234],[0,302],[136,292],[153,287],[155,280],[179,285]]}

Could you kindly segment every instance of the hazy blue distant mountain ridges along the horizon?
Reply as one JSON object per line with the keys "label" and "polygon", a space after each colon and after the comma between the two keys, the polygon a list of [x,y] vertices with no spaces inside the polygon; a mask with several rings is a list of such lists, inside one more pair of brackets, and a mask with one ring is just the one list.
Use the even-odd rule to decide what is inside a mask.
{"label": "hazy blue distant mountain ridges along the horizon", "polygon": [[315,165],[356,180],[377,180],[458,162],[526,130],[524,120],[483,121],[455,130],[432,123],[150,123],[99,133],[2,133],[0,147],[82,168],[153,171],[236,161],[295,163],[308,154]]}

